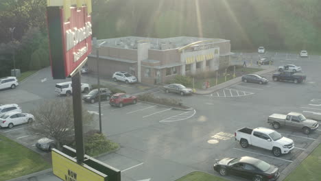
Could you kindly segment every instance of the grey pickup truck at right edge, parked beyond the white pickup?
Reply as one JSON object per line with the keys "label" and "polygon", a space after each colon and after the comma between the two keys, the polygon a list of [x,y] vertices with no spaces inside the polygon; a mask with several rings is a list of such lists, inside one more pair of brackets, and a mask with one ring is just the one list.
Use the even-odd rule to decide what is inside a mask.
{"label": "grey pickup truck at right edge, parked beyond the white pickup", "polygon": [[287,126],[290,128],[302,130],[305,134],[310,134],[312,131],[317,130],[319,127],[318,121],[312,119],[306,119],[303,114],[298,112],[289,112],[289,114],[272,114],[268,118],[268,123],[273,126],[274,129],[278,129],[281,126]]}

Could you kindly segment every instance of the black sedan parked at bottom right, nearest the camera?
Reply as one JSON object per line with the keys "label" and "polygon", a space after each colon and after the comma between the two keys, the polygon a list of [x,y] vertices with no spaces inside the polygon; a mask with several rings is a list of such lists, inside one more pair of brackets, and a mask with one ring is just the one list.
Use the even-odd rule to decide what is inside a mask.
{"label": "black sedan parked at bottom right, nearest the camera", "polygon": [[215,162],[214,170],[222,176],[230,174],[254,181],[272,181],[280,176],[277,167],[250,156],[223,158]]}

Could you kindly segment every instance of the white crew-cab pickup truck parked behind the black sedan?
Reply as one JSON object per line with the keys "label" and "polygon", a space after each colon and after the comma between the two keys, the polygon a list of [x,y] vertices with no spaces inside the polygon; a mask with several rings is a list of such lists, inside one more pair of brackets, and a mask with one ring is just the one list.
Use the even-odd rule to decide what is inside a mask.
{"label": "white crew-cab pickup truck parked behind the black sedan", "polygon": [[283,137],[280,133],[268,128],[241,128],[235,132],[235,140],[241,147],[249,145],[272,150],[274,156],[288,154],[294,149],[294,141]]}

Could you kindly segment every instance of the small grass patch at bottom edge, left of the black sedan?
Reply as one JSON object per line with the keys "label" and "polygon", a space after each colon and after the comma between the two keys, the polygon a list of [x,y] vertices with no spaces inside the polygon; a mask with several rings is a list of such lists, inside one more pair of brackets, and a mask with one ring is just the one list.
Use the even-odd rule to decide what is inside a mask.
{"label": "small grass patch at bottom edge, left of the black sedan", "polygon": [[213,176],[209,173],[204,173],[200,171],[194,171],[182,178],[179,178],[176,181],[228,181],[224,178],[220,178],[218,176]]}

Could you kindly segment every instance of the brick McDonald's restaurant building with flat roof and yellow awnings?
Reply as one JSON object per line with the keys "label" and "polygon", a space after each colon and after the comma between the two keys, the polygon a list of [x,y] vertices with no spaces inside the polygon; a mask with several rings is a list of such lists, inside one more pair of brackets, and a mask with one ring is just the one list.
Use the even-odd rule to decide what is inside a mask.
{"label": "brick McDonald's restaurant building with flat roof and yellow awnings", "polygon": [[[190,75],[202,71],[216,71],[228,67],[230,40],[219,38],[144,38],[128,36],[97,40],[88,56],[88,69],[99,75],[112,77],[115,71],[135,75],[147,84],[167,83],[175,75]],[[95,47],[95,46],[93,46]]]}

